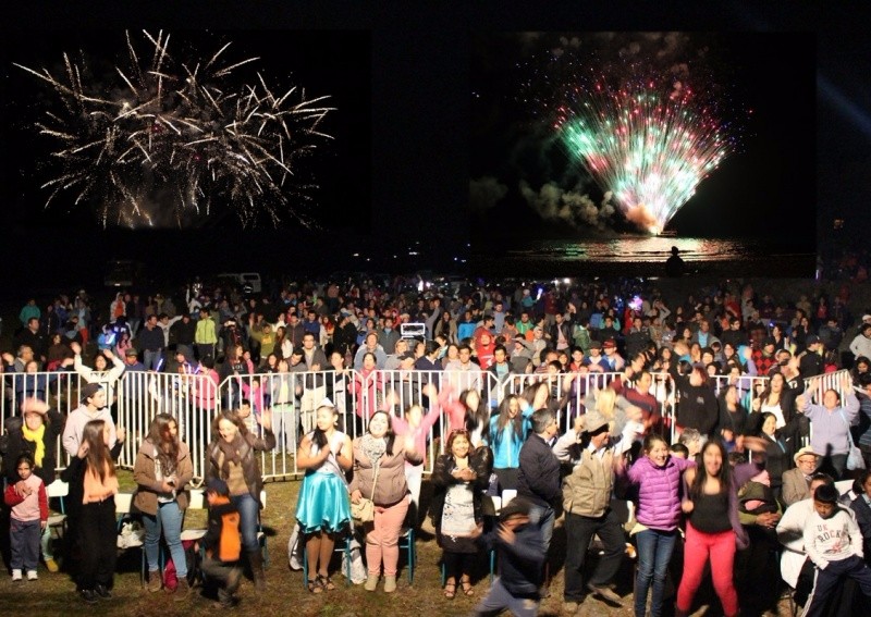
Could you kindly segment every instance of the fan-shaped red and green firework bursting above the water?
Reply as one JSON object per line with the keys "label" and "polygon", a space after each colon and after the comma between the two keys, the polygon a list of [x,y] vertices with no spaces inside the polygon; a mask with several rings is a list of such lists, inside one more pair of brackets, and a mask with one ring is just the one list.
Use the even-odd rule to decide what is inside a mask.
{"label": "fan-shaped red and green firework bursting above the water", "polygon": [[581,79],[557,108],[555,128],[626,218],[659,234],[734,150],[735,137],[711,92],[677,75],[612,83],[604,75]]}

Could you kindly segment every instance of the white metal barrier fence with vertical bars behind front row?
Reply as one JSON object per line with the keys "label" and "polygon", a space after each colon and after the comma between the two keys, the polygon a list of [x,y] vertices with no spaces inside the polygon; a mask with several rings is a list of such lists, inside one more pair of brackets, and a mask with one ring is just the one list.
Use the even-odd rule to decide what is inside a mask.
{"label": "white metal barrier fence with vertical bars behind front row", "polygon": [[[824,388],[837,391],[842,397],[841,375],[846,371],[827,373],[806,380],[806,392],[815,392],[817,383]],[[549,397],[561,403],[559,421],[561,432],[572,425],[574,418],[584,410],[588,393],[610,384],[619,373],[559,373],[559,374],[510,374],[500,380],[491,372],[470,371],[384,371],[368,374],[346,369],[341,372],[292,372],[265,373],[231,377],[214,383],[204,374],[172,374],[126,371],[113,383],[105,382],[108,373],[94,373],[91,381],[100,381],[109,391],[116,423],[127,431],[119,466],[132,469],[142,440],[155,415],[168,412],[179,421],[180,435],[191,448],[194,477],[197,482],[205,474],[205,453],[212,437],[212,423],[223,408],[238,408],[248,400],[252,415],[247,418],[250,431],[259,432],[259,419],[270,410],[277,447],[261,453],[260,465],[265,479],[294,478],[302,473],[296,466],[296,448],[299,431],[306,433],[315,427],[315,414],[329,397],[339,409],[341,427],[353,439],[366,431],[371,415],[384,409],[400,415],[412,405],[419,405],[427,414],[439,405],[436,397],[427,396],[428,385],[447,393],[445,400],[453,405],[458,395],[468,388],[477,390],[491,411],[496,411],[508,395],[523,393],[537,384],[545,383]],[[675,388],[665,373],[653,373],[650,394],[661,407],[664,425],[674,439],[676,414]],[[740,378],[738,387],[745,407],[749,410],[752,398],[759,395],[757,384],[766,383],[768,378]],[[62,414],[69,415],[79,404],[78,393],[85,380],[75,372],[7,373],[0,379],[0,429],[4,430],[5,418],[19,414],[21,402],[27,396],[37,396]],[[713,380],[719,394],[729,384],[728,378]],[[443,440],[447,431],[446,415],[442,409],[439,421],[431,429],[428,440],[425,472],[432,471],[436,456],[443,452]],[[58,444],[59,469],[69,458]]]}

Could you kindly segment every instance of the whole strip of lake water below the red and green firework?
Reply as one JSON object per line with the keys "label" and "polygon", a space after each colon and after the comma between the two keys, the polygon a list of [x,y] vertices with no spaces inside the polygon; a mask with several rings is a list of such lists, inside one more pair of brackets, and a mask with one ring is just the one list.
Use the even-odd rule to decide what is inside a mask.
{"label": "whole strip of lake water below the red and green firework", "polygon": [[561,275],[664,275],[676,246],[690,275],[812,277],[815,252],[768,239],[619,236],[582,240],[525,240],[500,248],[474,246],[471,269],[486,274],[544,270]]}

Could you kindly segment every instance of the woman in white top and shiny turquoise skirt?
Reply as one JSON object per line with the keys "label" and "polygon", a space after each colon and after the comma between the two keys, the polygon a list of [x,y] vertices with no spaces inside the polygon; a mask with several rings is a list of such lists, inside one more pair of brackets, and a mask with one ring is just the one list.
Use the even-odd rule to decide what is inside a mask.
{"label": "woman in white top and shiny turquoise skirt", "polygon": [[296,453],[296,465],[306,470],[299,497],[296,501],[296,520],[306,539],[308,562],[308,591],[321,593],[334,590],[330,580],[330,557],[335,546],[335,534],[351,521],[345,471],[354,460],[351,439],[336,430],[339,412],[329,399],[318,407],[314,431],[303,437]]}

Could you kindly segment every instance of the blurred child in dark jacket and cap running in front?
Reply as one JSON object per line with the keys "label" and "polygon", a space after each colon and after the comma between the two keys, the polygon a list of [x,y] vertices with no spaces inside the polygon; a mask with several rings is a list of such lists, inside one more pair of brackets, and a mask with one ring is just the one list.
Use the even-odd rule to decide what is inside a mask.
{"label": "blurred child in dark jacket and cap running in front", "polygon": [[538,615],[547,552],[541,529],[529,522],[531,508],[529,501],[515,497],[502,508],[496,529],[479,540],[488,550],[498,548],[500,576],[475,607],[476,615],[498,615],[505,608],[513,615]]}

